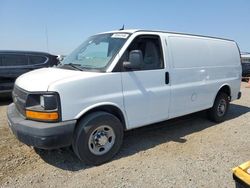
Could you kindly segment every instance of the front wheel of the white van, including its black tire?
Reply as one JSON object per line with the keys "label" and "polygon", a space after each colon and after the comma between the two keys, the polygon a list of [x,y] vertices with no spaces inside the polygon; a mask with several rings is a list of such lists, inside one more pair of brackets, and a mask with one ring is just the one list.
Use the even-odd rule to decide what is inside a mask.
{"label": "front wheel of the white van, including its black tire", "polygon": [[[98,143],[95,142],[95,140],[98,139],[97,134],[102,134],[102,132],[98,130],[99,128],[102,129],[102,127],[104,127],[103,131],[106,128],[110,129],[108,131],[112,130],[112,133],[114,133],[114,136],[110,136],[109,138],[107,135],[102,135],[103,138],[106,139],[106,144],[109,146],[107,151],[104,151],[106,144],[101,148],[102,145],[99,144],[99,141]],[[123,126],[120,120],[110,113],[100,111],[89,114],[79,121],[75,130],[72,146],[75,154],[80,160],[87,164],[99,165],[113,158],[113,156],[119,151],[122,141]],[[92,142],[96,144],[93,144]],[[94,149],[98,150],[99,147],[99,153],[98,151],[94,151]],[[93,152],[97,152],[99,155]],[[101,154],[101,152],[106,153]]]}

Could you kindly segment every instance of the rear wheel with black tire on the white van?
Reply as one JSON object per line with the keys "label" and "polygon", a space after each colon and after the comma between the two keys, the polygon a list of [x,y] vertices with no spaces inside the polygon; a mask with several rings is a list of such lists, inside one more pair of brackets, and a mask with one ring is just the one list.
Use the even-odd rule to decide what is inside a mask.
{"label": "rear wheel with black tire on the white van", "polygon": [[[220,105],[223,104],[223,110],[220,110]],[[220,92],[217,94],[212,108],[208,110],[208,118],[216,123],[225,121],[229,109],[229,96],[226,93]]]}

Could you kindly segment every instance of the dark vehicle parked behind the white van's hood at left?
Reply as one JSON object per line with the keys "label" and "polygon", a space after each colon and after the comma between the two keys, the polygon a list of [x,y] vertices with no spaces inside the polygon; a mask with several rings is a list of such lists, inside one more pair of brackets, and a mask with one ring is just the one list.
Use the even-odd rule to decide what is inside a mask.
{"label": "dark vehicle parked behind the white van's hood at left", "polygon": [[49,53],[0,50],[0,93],[11,92],[16,78],[21,74],[58,63],[57,56]]}

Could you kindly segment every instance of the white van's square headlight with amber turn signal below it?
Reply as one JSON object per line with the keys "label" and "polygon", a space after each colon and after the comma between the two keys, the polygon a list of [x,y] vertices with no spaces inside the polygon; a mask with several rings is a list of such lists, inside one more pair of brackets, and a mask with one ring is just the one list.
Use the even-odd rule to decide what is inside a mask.
{"label": "white van's square headlight with amber turn signal below it", "polygon": [[54,122],[60,119],[60,99],[57,93],[29,94],[26,118]]}

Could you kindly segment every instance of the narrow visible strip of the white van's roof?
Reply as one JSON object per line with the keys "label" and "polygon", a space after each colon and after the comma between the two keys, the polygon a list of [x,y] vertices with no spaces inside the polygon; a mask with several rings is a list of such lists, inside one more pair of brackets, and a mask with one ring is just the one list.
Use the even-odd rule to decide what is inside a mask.
{"label": "narrow visible strip of the white van's roof", "polygon": [[[133,33],[136,33],[136,32],[153,32],[153,33],[168,33],[168,34],[178,34],[178,35],[189,35],[189,36],[195,36],[195,37],[206,37],[206,38],[228,40],[228,41],[235,42],[232,39],[221,38],[221,37],[197,35],[197,34],[182,33],[182,32],[173,32],[173,31],[162,31],[162,30],[124,29],[124,30],[108,31],[108,32],[104,32],[104,33],[130,33],[130,34],[133,34]],[[101,34],[104,34],[104,33],[101,33]]]}

